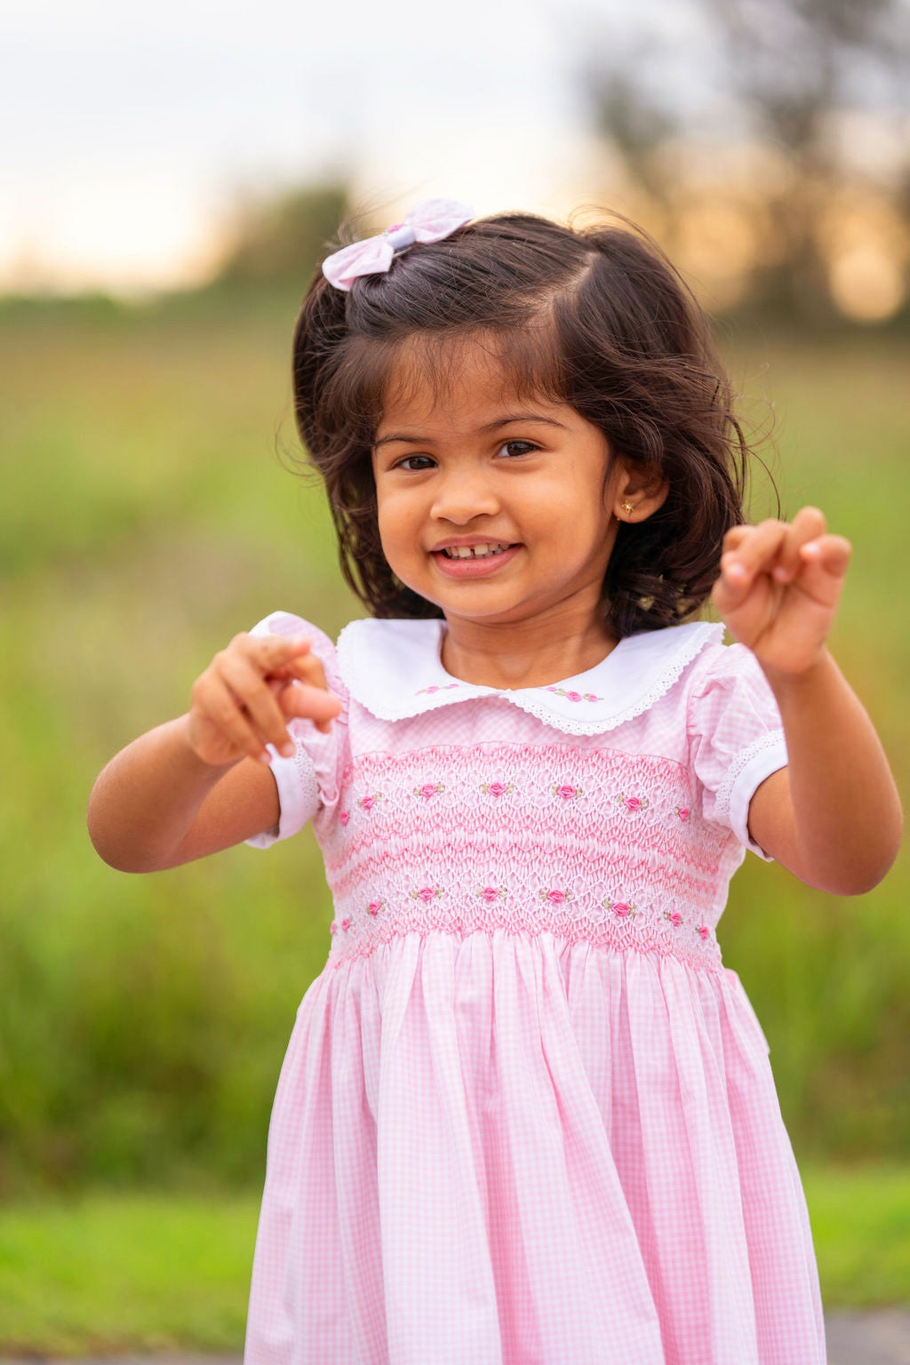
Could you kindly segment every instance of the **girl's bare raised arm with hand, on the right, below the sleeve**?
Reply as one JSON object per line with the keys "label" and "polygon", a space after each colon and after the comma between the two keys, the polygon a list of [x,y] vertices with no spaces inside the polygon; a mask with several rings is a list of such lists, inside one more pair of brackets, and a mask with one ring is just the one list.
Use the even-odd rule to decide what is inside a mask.
{"label": "girl's bare raised arm with hand, on the right, below the sleeve", "polygon": [[759,659],[780,710],[789,766],[756,790],[749,833],[824,891],[855,895],[900,845],[898,790],[872,721],[825,647],[850,561],[817,508],[793,523],[735,527],[714,602]]}

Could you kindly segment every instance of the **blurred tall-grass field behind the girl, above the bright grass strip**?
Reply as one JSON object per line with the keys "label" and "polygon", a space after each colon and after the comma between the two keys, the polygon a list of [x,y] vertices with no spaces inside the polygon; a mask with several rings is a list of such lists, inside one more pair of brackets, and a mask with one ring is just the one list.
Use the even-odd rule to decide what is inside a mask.
{"label": "blurred tall-grass field behind the girl, above the bright grass strip", "polygon": [[[237,629],[276,607],[329,633],[360,614],[322,494],[287,467],[292,324],[284,306],[0,313],[0,1196],[262,1178],[329,949],[314,841],[134,878],[97,859],[85,807]],[[854,543],[834,648],[906,788],[910,345],[724,345],[757,425],[774,405],[784,512],[817,504]],[[906,857],[855,900],[746,861],[720,942],[798,1156],[906,1158]]]}

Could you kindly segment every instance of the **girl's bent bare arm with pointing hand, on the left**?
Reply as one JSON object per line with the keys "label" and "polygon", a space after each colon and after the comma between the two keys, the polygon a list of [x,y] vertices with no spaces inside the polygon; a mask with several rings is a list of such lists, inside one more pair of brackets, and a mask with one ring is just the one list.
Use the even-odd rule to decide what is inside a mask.
{"label": "girl's bent bare arm with pointing hand, on the left", "polygon": [[307,640],[235,636],[196,678],[190,711],[102,770],[89,800],[91,842],[123,872],[156,872],[273,829],[278,793],[265,745],[293,752],[287,718],[327,730],[338,710]]}

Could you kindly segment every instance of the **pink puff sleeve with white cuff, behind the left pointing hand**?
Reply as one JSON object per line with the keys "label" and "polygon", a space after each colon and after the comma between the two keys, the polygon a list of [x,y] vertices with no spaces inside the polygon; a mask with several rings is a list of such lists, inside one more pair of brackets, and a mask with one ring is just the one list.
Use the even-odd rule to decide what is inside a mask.
{"label": "pink puff sleeve with white cuff, behind the left pointing hand", "polygon": [[278,824],[246,839],[251,848],[267,849],[280,839],[296,834],[323,809],[334,807],[338,800],[338,774],[342,764],[347,736],[348,696],[338,676],[334,644],[318,627],[289,612],[273,612],[252,627],[251,635],[306,635],[311,651],[322,663],[329,689],[342,703],[341,713],[332,722],[327,734],[315,728],[312,721],[295,717],[288,721],[288,733],[293,740],[293,753],[282,758],[273,744],[266,745],[271,755],[271,775],[278,788]]}

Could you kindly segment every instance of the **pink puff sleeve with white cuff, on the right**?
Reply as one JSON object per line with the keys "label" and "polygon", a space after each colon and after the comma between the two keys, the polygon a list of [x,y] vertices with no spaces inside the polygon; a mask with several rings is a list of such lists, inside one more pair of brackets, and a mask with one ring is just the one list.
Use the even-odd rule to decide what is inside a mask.
{"label": "pink puff sleeve with white cuff, on the right", "polygon": [[767,777],[787,766],[780,711],[761,665],[745,644],[705,650],[689,696],[689,767],[704,819],[731,830],[765,863],[749,837],[749,803]]}

